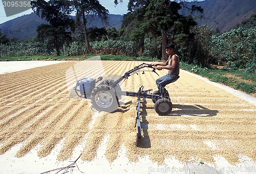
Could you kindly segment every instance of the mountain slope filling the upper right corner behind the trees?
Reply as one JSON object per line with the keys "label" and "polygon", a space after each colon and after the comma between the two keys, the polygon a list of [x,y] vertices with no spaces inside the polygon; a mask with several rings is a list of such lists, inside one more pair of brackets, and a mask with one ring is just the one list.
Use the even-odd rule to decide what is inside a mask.
{"label": "mountain slope filling the upper right corner behind the trees", "polygon": [[256,13],[255,0],[205,0],[196,4],[204,9],[204,19],[197,22],[207,24],[212,29],[219,28],[220,32],[228,31],[233,26],[242,23]]}

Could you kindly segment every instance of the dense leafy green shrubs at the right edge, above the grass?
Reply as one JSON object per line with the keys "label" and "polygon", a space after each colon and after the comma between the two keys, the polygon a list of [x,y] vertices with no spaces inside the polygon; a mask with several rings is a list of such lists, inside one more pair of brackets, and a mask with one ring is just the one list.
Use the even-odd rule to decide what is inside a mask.
{"label": "dense leafy green shrubs at the right edge, above the grass", "polygon": [[[231,29],[221,35],[213,35],[210,56],[219,64],[230,64],[233,68],[251,67],[255,70],[256,28]],[[254,65],[254,66],[253,66]]]}

